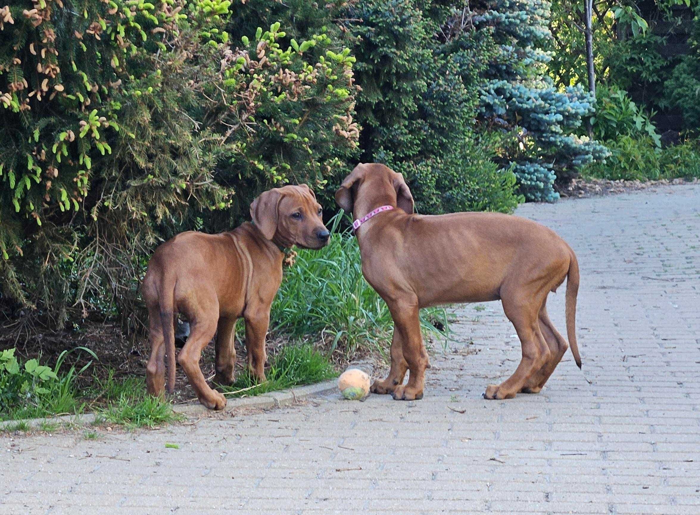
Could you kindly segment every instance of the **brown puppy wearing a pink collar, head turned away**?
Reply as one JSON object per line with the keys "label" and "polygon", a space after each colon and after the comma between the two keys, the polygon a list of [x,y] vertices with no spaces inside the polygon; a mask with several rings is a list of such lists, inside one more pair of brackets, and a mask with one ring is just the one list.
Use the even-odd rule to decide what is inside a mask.
{"label": "brown puppy wearing a pink collar, head turned away", "polygon": [[[384,298],[394,321],[391,369],[375,381],[374,393],[397,400],[421,399],[428,355],[421,338],[419,308],[454,302],[503,302],[517,331],[522,359],[500,385],[488,385],[486,399],[511,399],[542,389],[568,345],[547,316],[549,291],[568,277],[566,330],[576,364],[578,263],[554,231],[499,213],[413,214],[413,197],[401,174],[377,163],[360,164],[335,193],[337,204],[356,219],[381,212],[356,231],[362,272]],[[407,385],[402,385],[406,371]]]}

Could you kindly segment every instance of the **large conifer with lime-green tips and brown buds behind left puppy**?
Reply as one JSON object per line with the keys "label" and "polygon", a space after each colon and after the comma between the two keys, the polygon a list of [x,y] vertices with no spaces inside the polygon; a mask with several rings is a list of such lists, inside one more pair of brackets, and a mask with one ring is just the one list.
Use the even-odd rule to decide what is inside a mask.
{"label": "large conifer with lime-green tips and brown buds behind left puppy", "polygon": [[[98,311],[143,327],[155,245],[248,218],[262,189],[354,156],[353,57],[319,29],[224,31],[230,2],[13,3],[2,27],[0,301],[53,327]],[[29,12],[29,11],[27,11]],[[269,21],[268,21],[269,24]],[[25,83],[26,81],[26,83]],[[9,306],[8,306],[9,304]]]}

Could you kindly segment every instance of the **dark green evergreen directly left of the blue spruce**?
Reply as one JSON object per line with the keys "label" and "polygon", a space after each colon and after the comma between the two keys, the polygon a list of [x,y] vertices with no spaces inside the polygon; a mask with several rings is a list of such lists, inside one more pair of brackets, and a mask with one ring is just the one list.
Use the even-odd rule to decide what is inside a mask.
{"label": "dark green evergreen directly left of the blue spruce", "polygon": [[423,213],[510,212],[507,163],[475,131],[479,84],[496,54],[490,34],[461,25],[457,6],[414,0],[360,0],[349,7],[358,58],[362,160],[406,177]]}

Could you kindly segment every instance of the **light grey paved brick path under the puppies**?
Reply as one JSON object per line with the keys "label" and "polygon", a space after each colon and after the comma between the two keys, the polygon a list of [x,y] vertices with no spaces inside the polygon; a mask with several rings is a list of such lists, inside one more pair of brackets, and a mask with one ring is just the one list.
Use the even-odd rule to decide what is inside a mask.
{"label": "light grey paved brick path under the puppies", "polygon": [[[500,303],[469,305],[422,401],[328,396],[102,441],[0,437],[0,514],[700,514],[700,187],[518,214],[579,256],[592,384],[567,353],[542,393],[483,400],[519,343]],[[562,292],[547,306],[563,331]]]}

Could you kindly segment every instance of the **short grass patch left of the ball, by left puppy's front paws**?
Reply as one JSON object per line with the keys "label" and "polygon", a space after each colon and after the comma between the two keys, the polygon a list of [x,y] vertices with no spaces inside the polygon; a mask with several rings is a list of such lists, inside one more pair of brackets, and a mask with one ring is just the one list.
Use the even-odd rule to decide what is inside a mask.
{"label": "short grass patch left of the ball, by left puppy's front paws", "polygon": [[[309,343],[288,345],[269,359],[269,370],[265,372],[265,383],[257,384],[246,371],[239,374],[230,386],[221,386],[222,392],[237,392],[226,397],[251,397],[293,386],[310,385],[336,377],[338,374],[328,357],[314,349]],[[244,391],[240,391],[244,390]]]}

